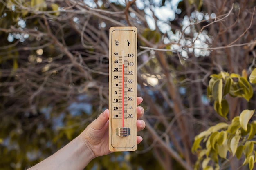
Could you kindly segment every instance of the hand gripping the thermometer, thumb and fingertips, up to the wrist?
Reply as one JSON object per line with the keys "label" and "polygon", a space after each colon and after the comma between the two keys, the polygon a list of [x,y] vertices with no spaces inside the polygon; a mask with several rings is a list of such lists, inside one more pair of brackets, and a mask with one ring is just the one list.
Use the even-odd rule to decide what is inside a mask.
{"label": "hand gripping the thermometer, thumb and fingertips, up to the wrist", "polygon": [[[137,97],[137,104],[141,104],[141,97]],[[144,114],[141,106],[137,107],[137,119]],[[108,119],[109,110],[106,109],[97,119],[95,119],[87,128],[79,135],[87,148],[90,148],[94,157],[107,155],[111,153],[108,149]],[[143,120],[137,120],[137,131],[143,130],[146,124]],[[142,141],[141,136],[137,136],[137,144]]]}

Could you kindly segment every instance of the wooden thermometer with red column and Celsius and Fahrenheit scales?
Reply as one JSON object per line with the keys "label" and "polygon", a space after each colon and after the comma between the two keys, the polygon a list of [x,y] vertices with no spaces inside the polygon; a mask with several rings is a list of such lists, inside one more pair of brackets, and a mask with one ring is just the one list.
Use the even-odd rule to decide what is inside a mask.
{"label": "wooden thermometer with red column and Celsius and Fahrenheit scales", "polygon": [[137,28],[109,30],[109,150],[137,150]]}

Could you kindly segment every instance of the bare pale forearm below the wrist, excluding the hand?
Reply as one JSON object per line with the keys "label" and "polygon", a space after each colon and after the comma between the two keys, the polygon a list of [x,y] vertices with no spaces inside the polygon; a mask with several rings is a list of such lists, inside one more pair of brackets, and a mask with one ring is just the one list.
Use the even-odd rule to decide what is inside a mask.
{"label": "bare pale forearm below the wrist, excluding the hand", "polygon": [[93,158],[94,153],[79,135],[54,155],[28,170],[83,170]]}

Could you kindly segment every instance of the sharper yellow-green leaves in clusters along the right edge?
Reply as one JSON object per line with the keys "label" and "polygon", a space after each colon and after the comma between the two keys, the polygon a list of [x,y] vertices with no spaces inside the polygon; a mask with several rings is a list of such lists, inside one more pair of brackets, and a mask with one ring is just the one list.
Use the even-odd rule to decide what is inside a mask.
{"label": "sharper yellow-green leaves in clusters along the right edge", "polygon": [[[251,83],[255,83],[255,76],[256,68],[249,77]],[[243,97],[247,101],[253,95],[252,86],[247,81],[247,76],[241,77],[238,74],[229,75],[227,72],[221,72],[210,77],[207,93],[215,101],[214,109],[216,112],[225,119],[229,113],[229,104],[225,100],[225,95]],[[234,82],[234,79],[237,79],[237,82]],[[225,84],[224,88],[223,84]],[[232,119],[231,124],[218,123],[197,135],[191,149],[198,156],[195,169],[202,166],[203,170],[213,170],[214,165],[214,170],[219,170],[219,158],[225,160],[236,155],[237,159],[240,159],[244,155],[243,165],[249,163],[249,169],[252,170],[256,162],[256,152],[254,151],[256,121],[251,120],[254,113],[255,110],[243,110],[240,116]],[[205,149],[200,146],[201,141],[203,141]]]}

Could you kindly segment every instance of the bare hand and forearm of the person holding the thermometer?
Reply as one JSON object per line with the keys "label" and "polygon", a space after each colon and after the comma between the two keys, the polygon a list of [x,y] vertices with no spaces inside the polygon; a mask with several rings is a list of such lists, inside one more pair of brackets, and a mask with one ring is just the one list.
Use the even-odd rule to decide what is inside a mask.
{"label": "bare hand and forearm of the person holding the thermometer", "polygon": [[[141,104],[141,97],[137,97],[137,104]],[[141,106],[137,107],[137,118],[144,114]],[[95,157],[111,153],[108,150],[108,119],[109,110],[106,109],[85,130],[66,146],[52,156],[41,161],[28,170],[83,170]],[[137,130],[145,128],[143,120],[137,120]],[[142,141],[137,136],[137,144]]]}

